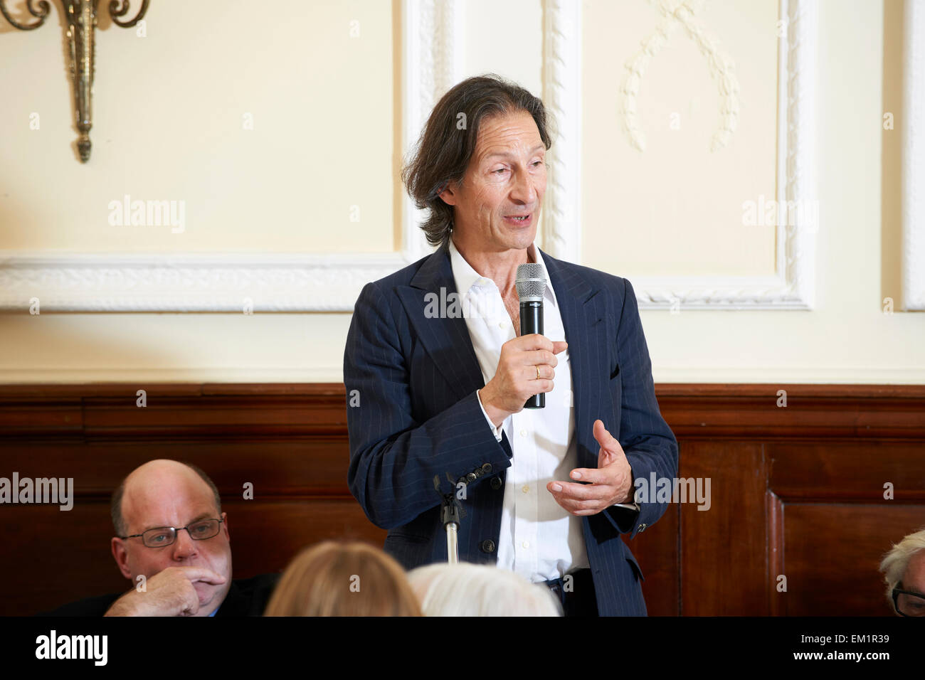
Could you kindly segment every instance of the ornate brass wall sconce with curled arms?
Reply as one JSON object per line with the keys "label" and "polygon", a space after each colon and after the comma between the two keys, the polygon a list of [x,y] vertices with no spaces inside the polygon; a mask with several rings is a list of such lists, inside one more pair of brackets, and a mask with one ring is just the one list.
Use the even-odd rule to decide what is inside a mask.
{"label": "ornate brass wall sconce with curled arms", "polygon": [[[86,163],[90,158],[90,129],[92,120],[93,95],[93,54],[95,52],[94,33],[96,29],[96,6],[99,0],[62,0],[65,9],[65,18],[68,21],[68,44],[70,46],[70,76],[74,88],[74,117],[80,139],[77,148],[80,152],[80,162]],[[110,0],[109,18],[122,28],[130,28],[137,24],[148,11],[149,0],[142,0],[142,8],[134,19],[123,21],[121,18],[129,13],[129,0]],[[0,13],[9,23],[20,31],[32,31],[43,25],[45,18],[51,12],[51,5],[47,0],[26,0],[29,13],[38,19],[31,24],[20,24],[9,16],[6,9],[6,0],[0,0]]]}

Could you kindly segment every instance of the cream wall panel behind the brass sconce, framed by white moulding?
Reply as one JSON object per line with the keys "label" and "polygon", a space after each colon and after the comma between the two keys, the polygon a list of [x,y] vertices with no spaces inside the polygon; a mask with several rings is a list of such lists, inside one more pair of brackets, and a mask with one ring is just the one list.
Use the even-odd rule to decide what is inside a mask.
{"label": "cream wall panel behind the brass sconce, framed by white moulding", "polygon": [[[10,29],[0,35],[0,247],[394,250],[391,5],[258,7],[159,0],[143,38],[101,19],[86,165],[74,160],[57,20],[13,31],[0,18]],[[110,202],[126,194],[182,201],[182,232],[110,224]]]}

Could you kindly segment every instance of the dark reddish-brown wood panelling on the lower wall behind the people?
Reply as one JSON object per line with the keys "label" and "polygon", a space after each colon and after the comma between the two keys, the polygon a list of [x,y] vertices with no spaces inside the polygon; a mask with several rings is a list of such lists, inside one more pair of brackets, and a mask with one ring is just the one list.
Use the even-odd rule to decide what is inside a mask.
{"label": "dark reddish-brown wood panelling on the lower wall behind the people", "polygon": [[[672,504],[630,541],[650,614],[892,613],[877,566],[925,525],[925,386],[656,391],[679,476],[709,477],[710,507]],[[109,494],[153,458],[215,480],[235,577],[279,571],[324,538],[386,534],[347,488],[340,384],[0,386],[0,451],[0,476],[73,477],[76,496],[69,512],[0,505],[2,614],[129,586],[109,553]]]}

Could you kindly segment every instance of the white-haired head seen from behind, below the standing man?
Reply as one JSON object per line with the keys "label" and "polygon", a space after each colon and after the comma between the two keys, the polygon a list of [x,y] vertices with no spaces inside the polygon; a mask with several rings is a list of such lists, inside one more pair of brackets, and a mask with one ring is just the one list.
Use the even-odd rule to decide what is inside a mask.
{"label": "white-haired head seen from behind, below the standing man", "polygon": [[562,615],[548,587],[490,564],[428,564],[408,580],[425,616]]}

